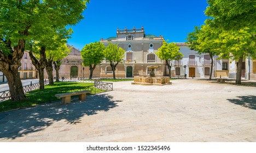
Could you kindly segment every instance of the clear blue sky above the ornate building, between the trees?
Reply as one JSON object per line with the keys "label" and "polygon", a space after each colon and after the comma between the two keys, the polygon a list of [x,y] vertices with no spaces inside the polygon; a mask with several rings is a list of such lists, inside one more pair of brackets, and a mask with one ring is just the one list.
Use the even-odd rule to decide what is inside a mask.
{"label": "clear blue sky above the ornate building, between the trees", "polygon": [[146,34],[162,35],[169,42],[185,42],[194,26],[207,19],[206,7],[206,0],[91,0],[84,19],[72,26],[74,33],[68,44],[81,50],[85,44],[115,37],[117,27],[133,26],[143,26]]}

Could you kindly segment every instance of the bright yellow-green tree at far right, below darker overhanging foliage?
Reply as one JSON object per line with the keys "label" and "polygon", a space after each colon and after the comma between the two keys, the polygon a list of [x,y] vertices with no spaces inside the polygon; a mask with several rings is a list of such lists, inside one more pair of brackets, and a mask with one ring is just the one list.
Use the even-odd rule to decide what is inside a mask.
{"label": "bright yellow-green tree at far right, below darker overhanging foliage", "polygon": [[256,30],[242,28],[237,31],[223,31],[215,41],[220,48],[220,56],[238,60],[236,84],[241,84],[242,62],[245,57],[256,58]]}

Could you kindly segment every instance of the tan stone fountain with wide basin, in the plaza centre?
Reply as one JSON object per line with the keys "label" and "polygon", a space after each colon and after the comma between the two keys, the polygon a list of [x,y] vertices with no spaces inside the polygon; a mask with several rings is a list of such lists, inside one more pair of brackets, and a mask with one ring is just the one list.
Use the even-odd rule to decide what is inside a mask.
{"label": "tan stone fountain with wide basin, in the plaza centre", "polygon": [[151,72],[148,76],[135,76],[132,85],[171,85],[169,77],[155,77],[154,70],[158,66],[149,66]]}

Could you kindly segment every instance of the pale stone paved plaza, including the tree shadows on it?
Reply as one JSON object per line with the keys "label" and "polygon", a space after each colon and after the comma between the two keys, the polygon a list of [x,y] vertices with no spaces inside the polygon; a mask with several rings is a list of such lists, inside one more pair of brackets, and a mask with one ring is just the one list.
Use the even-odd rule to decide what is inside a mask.
{"label": "pale stone paved plaza, including the tree shadows on it", "polygon": [[114,90],[0,113],[0,142],[256,142],[256,87],[207,80]]}

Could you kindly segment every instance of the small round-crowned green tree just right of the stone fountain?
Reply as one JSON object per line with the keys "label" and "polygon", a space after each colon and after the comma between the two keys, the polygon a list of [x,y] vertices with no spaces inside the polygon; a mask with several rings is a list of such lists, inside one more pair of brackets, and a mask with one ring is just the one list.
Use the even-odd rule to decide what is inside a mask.
{"label": "small round-crowned green tree just right of the stone fountain", "polygon": [[162,42],[162,46],[155,53],[161,60],[164,60],[168,68],[168,75],[171,78],[171,68],[170,61],[181,60],[183,57],[182,53],[179,52],[179,46],[175,43],[167,43],[165,40]]}

